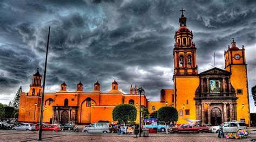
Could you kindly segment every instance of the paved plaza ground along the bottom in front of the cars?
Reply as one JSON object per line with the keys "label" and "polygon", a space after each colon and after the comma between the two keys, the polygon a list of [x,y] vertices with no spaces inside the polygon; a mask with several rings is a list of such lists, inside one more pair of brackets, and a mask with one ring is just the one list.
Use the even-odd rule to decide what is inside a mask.
{"label": "paved plaza ground along the bottom in front of the cars", "polygon": [[[250,134],[251,139],[256,139],[256,133]],[[150,134],[149,137],[134,138],[135,135],[115,133],[72,133],[66,132],[43,132],[43,141],[250,141],[250,139],[220,139],[215,133],[178,133]],[[37,141],[38,131],[12,131],[0,130],[0,141]]]}

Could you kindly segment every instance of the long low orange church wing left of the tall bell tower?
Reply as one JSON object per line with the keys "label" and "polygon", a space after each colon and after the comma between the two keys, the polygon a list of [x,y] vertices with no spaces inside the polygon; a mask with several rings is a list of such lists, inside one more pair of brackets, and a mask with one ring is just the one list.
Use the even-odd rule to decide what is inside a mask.
{"label": "long low orange church wing left of the tall bell tower", "polygon": [[[33,75],[32,84],[28,93],[21,94],[21,104],[19,109],[19,121],[37,123],[40,119],[41,100],[42,100],[42,76],[37,70]],[[76,91],[66,91],[67,85],[63,82],[60,90],[56,93],[45,93],[44,96],[44,112],[43,122],[47,123],[72,123],[72,124],[90,124],[99,120],[109,120],[112,122],[112,110],[118,104],[133,104],[139,106],[139,94],[137,94],[137,86],[130,88],[130,94],[124,94],[118,90],[116,80],[112,82],[112,89],[107,93],[100,91],[100,84],[97,81],[93,90],[85,92],[83,84],[77,84]],[[166,93],[165,93],[166,92]],[[167,101],[169,105],[172,91],[161,91],[161,102],[149,102],[144,94],[142,94],[142,106],[147,108],[150,106],[153,110],[165,106]],[[174,98],[173,98],[174,99]],[[173,103],[172,103],[173,105]],[[154,109],[155,108],[155,109]],[[136,122],[139,122],[139,110]]]}

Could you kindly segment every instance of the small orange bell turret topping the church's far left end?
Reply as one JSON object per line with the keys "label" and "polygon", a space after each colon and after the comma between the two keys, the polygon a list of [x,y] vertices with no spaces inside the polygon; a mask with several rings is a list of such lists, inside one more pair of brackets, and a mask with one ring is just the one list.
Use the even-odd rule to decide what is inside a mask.
{"label": "small orange bell turret topping the church's far left end", "polygon": [[42,75],[39,73],[39,69],[37,68],[37,72],[33,75],[32,83],[30,84],[29,96],[41,96],[42,93]]}

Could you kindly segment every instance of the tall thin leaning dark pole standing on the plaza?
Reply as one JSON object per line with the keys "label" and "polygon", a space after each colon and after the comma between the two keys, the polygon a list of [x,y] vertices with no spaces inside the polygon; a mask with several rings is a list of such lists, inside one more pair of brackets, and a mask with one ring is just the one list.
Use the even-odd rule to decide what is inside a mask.
{"label": "tall thin leaning dark pole standing on the plaza", "polygon": [[49,39],[50,39],[50,28],[51,28],[51,26],[49,26],[48,41],[47,41],[46,56],[45,56],[45,64],[44,64],[44,84],[43,84],[43,93],[42,93],[42,100],[41,100],[41,113],[40,113],[40,126],[39,126],[39,138],[38,138],[38,140],[42,140],[42,123],[43,123],[43,111],[44,111],[44,88],[45,88],[47,56],[48,56]]}

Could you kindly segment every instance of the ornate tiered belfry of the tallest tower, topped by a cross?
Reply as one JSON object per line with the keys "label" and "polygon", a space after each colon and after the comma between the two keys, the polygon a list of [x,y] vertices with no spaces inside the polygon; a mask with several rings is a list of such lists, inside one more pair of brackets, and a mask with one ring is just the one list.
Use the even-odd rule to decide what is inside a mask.
{"label": "ornate tiered belfry of the tallest tower, topped by a cross", "polygon": [[173,48],[174,75],[197,75],[196,45],[193,43],[193,34],[187,28],[187,18],[183,15],[181,8],[179,18],[180,27],[176,31]]}

